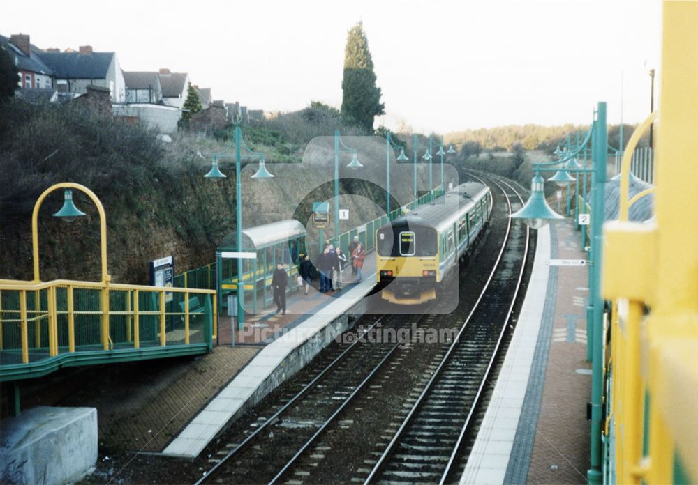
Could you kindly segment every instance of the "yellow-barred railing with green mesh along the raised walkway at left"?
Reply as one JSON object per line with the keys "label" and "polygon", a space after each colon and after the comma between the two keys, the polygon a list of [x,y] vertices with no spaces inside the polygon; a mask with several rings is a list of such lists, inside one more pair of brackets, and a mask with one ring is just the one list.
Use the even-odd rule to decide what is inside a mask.
{"label": "yellow-barred railing with green mesh along the raised walkway at left", "polygon": [[[195,315],[204,316],[196,324],[195,332],[201,332],[197,340],[210,343],[217,330],[215,294],[214,290],[111,282],[0,279],[0,351],[4,356],[16,353],[21,356],[16,363],[28,364],[76,350],[138,349],[146,333],[148,346],[189,345]],[[194,312],[191,298],[198,298]],[[212,332],[205,328],[207,315],[212,318]],[[142,328],[144,319],[149,319],[149,332]]]}

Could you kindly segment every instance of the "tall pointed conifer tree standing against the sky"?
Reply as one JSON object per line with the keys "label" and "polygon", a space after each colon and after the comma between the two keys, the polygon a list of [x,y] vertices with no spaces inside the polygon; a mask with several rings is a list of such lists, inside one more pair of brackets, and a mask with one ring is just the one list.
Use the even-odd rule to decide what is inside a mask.
{"label": "tall pointed conifer tree standing against the sky", "polygon": [[369,41],[362,22],[353,26],[347,34],[342,91],[343,121],[373,132],[373,118],[385,113],[385,105],[380,102],[380,88],[376,86]]}

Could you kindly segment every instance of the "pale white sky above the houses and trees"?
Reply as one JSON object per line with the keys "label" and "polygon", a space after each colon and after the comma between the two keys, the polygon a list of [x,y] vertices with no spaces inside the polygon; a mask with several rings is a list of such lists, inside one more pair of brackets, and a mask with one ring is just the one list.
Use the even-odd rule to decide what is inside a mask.
{"label": "pale white sky above the houses and trees", "polygon": [[4,5],[0,34],[117,52],[126,71],[189,72],[214,99],[265,111],[339,108],[347,31],[361,21],[385,102],[376,125],[420,132],[588,124],[598,101],[609,123],[621,105],[637,123],[660,61],[659,0],[31,3]]}

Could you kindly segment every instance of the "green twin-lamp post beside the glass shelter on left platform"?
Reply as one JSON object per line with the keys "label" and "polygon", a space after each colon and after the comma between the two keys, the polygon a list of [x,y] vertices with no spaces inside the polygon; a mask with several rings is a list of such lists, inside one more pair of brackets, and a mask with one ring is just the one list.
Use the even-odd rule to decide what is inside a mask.
{"label": "green twin-lamp post beside the glass shelter on left platform", "polygon": [[[232,146],[221,153],[214,153],[211,170],[205,175],[206,178],[220,180],[226,177],[218,168],[218,159],[230,156],[228,152],[231,148]],[[242,148],[244,148],[246,152],[244,155],[242,154]],[[240,171],[242,170],[243,157],[256,158],[259,162],[257,173],[255,173],[252,178],[265,179],[274,177],[272,174],[269,174],[269,171],[267,171],[265,167],[264,155],[247,148],[242,139],[240,125],[235,125],[235,233],[237,236],[237,251],[240,253],[242,253],[242,180],[240,180]],[[242,257],[240,256],[242,255],[238,254],[237,257],[237,328],[242,330],[245,321],[243,300],[245,293],[244,282],[242,281]],[[220,284],[220,280],[218,280],[218,284]],[[234,337],[231,336],[230,338],[233,339]]]}

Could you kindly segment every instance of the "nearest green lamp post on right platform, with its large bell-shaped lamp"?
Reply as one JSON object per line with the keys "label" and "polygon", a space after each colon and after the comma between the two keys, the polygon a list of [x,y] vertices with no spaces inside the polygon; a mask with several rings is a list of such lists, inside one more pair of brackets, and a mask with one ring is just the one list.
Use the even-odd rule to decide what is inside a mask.
{"label": "nearest green lamp post on right platform, with its large bell-shaped lamp", "polygon": [[586,309],[587,318],[587,356],[591,351],[592,388],[591,388],[591,468],[587,471],[587,479],[592,484],[602,481],[602,396],[603,396],[603,312],[604,301],[600,291],[602,268],[602,226],[604,223],[604,185],[606,183],[608,132],[606,125],[606,103],[599,102],[595,112],[595,121],[591,126],[591,132],[581,146],[572,151],[567,157],[557,162],[536,164],[534,169],[536,176],[531,185],[531,195],[526,205],[519,212],[512,214],[512,218],[523,219],[531,229],[539,229],[551,220],[562,219],[554,213],[545,203],[542,177],[539,171],[544,167],[550,167],[577,155],[587,145],[591,137],[592,163],[591,169],[579,169],[578,172],[586,174],[591,172],[591,244],[589,249],[589,305]]}

